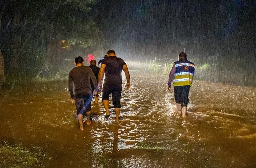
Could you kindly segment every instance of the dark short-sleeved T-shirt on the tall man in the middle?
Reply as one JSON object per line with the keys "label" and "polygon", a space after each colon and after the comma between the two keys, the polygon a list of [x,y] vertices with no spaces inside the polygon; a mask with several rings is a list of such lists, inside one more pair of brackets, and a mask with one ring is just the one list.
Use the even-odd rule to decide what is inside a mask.
{"label": "dark short-sleeved T-shirt on the tall man in the middle", "polygon": [[106,65],[105,85],[122,85],[122,70],[126,64],[122,58],[109,56],[102,61]]}

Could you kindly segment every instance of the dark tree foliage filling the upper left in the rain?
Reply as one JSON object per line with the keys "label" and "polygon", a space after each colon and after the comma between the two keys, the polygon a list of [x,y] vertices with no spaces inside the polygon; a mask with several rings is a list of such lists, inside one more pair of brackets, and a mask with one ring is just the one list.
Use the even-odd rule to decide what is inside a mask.
{"label": "dark tree foliage filling the upper left in the rain", "polygon": [[[96,2],[3,1],[0,49],[5,60],[5,73],[34,75],[46,72],[53,70],[52,65],[56,68],[59,65],[56,62],[68,56],[68,52],[82,50],[83,53],[101,47],[105,41],[104,35],[88,16],[91,6]],[[70,48],[62,49],[61,40],[70,43]]]}

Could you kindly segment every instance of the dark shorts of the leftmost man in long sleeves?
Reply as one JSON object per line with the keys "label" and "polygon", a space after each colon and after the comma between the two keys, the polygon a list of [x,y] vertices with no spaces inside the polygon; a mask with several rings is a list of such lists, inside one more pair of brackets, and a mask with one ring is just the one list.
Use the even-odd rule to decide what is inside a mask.
{"label": "dark shorts of the leftmost man in long sleeves", "polygon": [[[82,110],[84,107],[85,102],[89,99],[90,95],[76,95],[75,96],[75,107],[76,107],[76,115],[79,114],[79,112]],[[91,101],[85,108],[85,112],[91,111]]]}

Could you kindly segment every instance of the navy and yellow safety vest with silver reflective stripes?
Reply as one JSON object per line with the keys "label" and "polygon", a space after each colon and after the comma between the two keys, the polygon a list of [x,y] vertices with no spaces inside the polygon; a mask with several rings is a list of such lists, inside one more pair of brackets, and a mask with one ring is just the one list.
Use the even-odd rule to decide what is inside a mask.
{"label": "navy and yellow safety vest with silver reflective stripes", "polygon": [[195,64],[193,62],[189,62],[187,59],[185,62],[176,61],[175,64],[175,74],[173,85],[174,86],[191,86],[194,73],[195,73]]}

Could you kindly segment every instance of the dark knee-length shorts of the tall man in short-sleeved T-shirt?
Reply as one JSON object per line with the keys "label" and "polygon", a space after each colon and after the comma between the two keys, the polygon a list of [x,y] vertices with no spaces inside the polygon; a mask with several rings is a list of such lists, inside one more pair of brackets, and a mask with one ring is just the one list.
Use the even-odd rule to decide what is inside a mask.
{"label": "dark knee-length shorts of the tall man in short-sleeved T-shirt", "polygon": [[112,94],[112,101],[115,108],[121,108],[120,104],[122,93],[122,85],[106,85],[102,89],[102,102],[103,100],[109,100],[109,95]]}

